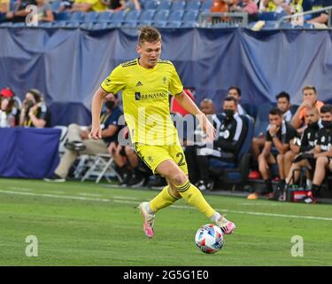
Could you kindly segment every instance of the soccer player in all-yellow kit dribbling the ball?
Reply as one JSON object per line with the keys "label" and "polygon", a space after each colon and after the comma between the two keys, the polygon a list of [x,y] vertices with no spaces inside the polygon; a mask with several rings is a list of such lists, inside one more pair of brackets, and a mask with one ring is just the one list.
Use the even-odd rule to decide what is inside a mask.
{"label": "soccer player in all-yellow kit dribbling the ball", "polygon": [[99,114],[104,97],[122,91],[124,114],[135,152],[153,173],[166,177],[168,184],[150,202],[139,205],[146,236],[154,236],[155,213],[181,198],[220,226],[224,233],[233,233],[235,224],[212,209],[197,187],[189,182],[185,156],[170,117],[168,92],[190,114],[197,115],[208,139],[213,140],[215,129],[183,91],[173,63],[160,60],[161,44],[158,29],[140,29],[136,47],[140,57],[113,69],[94,94],[90,135],[101,138]]}

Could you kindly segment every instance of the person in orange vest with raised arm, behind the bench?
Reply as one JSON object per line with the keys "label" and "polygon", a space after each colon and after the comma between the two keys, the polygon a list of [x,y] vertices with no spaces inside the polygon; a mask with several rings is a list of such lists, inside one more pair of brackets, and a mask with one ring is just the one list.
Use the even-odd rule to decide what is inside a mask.
{"label": "person in orange vest with raised arm, behind the bench", "polygon": [[317,91],[314,86],[305,86],[302,90],[303,102],[297,108],[297,112],[293,115],[291,125],[297,129],[298,133],[302,134],[305,130],[305,114],[308,107],[316,107],[320,111],[320,107],[324,105],[323,102],[317,99]]}

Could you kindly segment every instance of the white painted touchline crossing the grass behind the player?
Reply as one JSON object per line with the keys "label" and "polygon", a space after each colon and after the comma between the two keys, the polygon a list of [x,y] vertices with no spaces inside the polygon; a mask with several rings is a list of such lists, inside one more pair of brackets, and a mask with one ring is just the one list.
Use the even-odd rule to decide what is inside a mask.
{"label": "white painted touchline crossing the grass behind the player", "polygon": [[[102,202],[117,202],[117,203],[127,203],[127,204],[137,204],[137,201],[121,201],[121,200],[111,200],[111,199],[101,199],[101,198],[89,198],[81,196],[70,196],[70,195],[56,195],[56,194],[44,194],[44,193],[22,193],[22,192],[12,192],[7,190],[0,190],[0,193],[7,194],[19,194],[19,195],[29,195],[29,196],[41,196],[50,198],[62,198],[62,199],[73,199],[82,201],[102,201]],[[189,206],[172,205],[172,208],[177,209],[193,209]],[[332,221],[332,217],[315,217],[315,216],[301,216],[301,215],[288,215],[288,214],[276,214],[276,213],[264,213],[264,212],[253,212],[253,211],[239,211],[239,210],[229,210],[229,209],[217,209],[222,212],[230,212],[237,214],[246,215],[256,215],[256,216],[268,216],[268,217],[286,217],[286,218],[298,218],[298,219],[313,219],[322,221]]]}

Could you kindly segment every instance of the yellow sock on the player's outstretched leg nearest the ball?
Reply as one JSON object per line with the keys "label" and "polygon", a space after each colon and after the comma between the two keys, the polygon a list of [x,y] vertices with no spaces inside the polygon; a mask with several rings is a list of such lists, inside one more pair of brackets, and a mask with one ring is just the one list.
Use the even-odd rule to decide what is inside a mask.
{"label": "yellow sock on the player's outstretched leg nearest the ball", "polygon": [[176,186],[176,188],[184,200],[204,213],[206,217],[211,218],[215,213],[215,210],[205,201],[203,194],[195,185],[191,185],[189,180],[184,185]]}

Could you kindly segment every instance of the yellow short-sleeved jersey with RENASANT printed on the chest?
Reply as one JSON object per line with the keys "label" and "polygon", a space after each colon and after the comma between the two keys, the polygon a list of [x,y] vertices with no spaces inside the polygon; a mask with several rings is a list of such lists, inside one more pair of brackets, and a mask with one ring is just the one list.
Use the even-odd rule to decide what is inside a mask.
{"label": "yellow short-sleeved jersey with RENASANT printed on the chest", "polygon": [[179,75],[171,61],[158,60],[153,68],[144,68],[138,59],[113,69],[101,84],[104,91],[122,91],[123,111],[134,143],[161,146],[179,144],[169,110],[169,92],[183,91]]}

